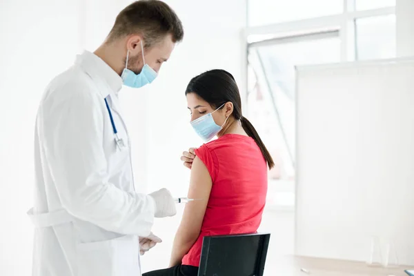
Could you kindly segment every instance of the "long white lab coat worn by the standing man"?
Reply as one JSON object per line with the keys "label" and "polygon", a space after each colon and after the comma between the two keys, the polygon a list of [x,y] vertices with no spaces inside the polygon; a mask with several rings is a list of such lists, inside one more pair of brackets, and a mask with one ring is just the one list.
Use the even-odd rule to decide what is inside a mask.
{"label": "long white lab coat worn by the standing man", "polygon": [[[135,193],[119,75],[91,52],[51,81],[35,130],[34,276],[137,276],[155,202]],[[112,111],[119,150],[104,99]]]}

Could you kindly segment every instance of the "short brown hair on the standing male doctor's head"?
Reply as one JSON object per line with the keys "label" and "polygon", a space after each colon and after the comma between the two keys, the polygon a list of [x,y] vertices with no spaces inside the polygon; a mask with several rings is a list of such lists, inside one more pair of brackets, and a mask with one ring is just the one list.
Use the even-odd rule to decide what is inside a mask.
{"label": "short brown hair on the standing male doctor's head", "polygon": [[173,42],[180,42],[184,37],[181,21],[163,1],[140,0],[131,3],[119,12],[115,24],[108,35],[108,42],[130,34],[141,34],[146,48],[172,35]]}

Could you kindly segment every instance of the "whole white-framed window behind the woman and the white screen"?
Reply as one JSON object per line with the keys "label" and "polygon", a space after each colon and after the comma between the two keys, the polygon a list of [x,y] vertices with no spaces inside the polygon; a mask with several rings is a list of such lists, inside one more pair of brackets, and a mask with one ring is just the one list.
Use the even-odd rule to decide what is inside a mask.
{"label": "whole white-framed window behind the woman and the white screen", "polygon": [[395,0],[248,0],[248,26],[247,114],[276,164],[268,203],[293,206],[295,66],[395,57]]}

